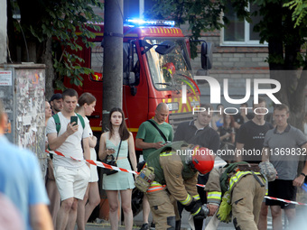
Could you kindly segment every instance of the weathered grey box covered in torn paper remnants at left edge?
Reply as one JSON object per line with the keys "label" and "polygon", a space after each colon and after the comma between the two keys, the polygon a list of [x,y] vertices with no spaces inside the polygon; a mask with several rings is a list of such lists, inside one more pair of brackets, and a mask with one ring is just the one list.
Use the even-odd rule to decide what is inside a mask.
{"label": "weathered grey box covered in torn paper remnants at left edge", "polygon": [[33,151],[45,175],[45,66],[0,65],[0,98],[9,119],[6,137]]}

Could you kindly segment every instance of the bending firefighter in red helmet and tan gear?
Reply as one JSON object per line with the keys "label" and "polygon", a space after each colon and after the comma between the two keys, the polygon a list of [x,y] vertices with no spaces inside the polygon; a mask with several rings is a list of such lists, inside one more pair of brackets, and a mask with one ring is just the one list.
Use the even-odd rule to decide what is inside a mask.
{"label": "bending firefighter in red helmet and tan gear", "polygon": [[138,183],[138,178],[152,178],[149,170],[154,174],[154,181],[150,181],[145,196],[157,230],[180,229],[177,201],[192,216],[205,218],[209,214],[209,210],[202,207],[196,184],[199,172],[206,174],[212,170],[214,156],[206,148],[190,147],[185,142],[174,142],[152,152],[147,158],[146,168],[136,178],[135,186],[139,188],[138,184],[142,182]]}

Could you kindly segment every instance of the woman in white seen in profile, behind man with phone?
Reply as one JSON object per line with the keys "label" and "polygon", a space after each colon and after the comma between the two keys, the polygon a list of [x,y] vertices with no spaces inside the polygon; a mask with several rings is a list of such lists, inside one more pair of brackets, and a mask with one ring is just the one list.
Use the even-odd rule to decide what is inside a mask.
{"label": "woman in white seen in profile, behind man with phone", "polygon": [[[89,138],[88,144],[90,148],[90,160],[97,161],[97,154],[95,146],[97,144],[97,137],[93,135],[90,129],[89,120],[86,115],[91,115],[95,111],[96,97],[90,93],[82,94],[78,99],[77,112],[82,115],[85,124],[88,125]],[[88,218],[93,212],[94,208],[100,203],[99,189],[98,189],[98,171],[97,166],[90,165],[90,179],[88,182],[88,189],[84,195],[83,200],[79,200],[77,225],[78,229],[85,229]]]}

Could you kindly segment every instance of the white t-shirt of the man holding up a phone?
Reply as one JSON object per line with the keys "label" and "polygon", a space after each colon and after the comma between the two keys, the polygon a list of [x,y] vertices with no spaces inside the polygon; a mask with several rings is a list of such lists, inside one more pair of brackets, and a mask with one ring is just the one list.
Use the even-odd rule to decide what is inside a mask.
{"label": "white t-shirt of the man holding up a phone", "polygon": [[[59,136],[63,133],[65,133],[67,129],[67,125],[70,124],[70,118],[64,117],[61,112],[58,113],[60,118],[60,132]],[[86,122],[85,122],[86,123]],[[78,117],[78,124],[79,129],[76,133],[71,134],[64,143],[60,145],[56,151],[63,153],[66,157],[53,155],[53,164],[54,166],[63,166],[66,168],[79,168],[82,167],[85,162],[84,161],[75,161],[67,157],[73,157],[74,159],[84,159],[83,156],[83,149],[81,146],[81,141],[83,138],[89,137],[89,130],[88,125],[85,125],[84,130],[82,127],[82,124]],[[57,133],[56,125],[54,119],[51,117],[48,120],[47,127],[46,127],[46,133],[47,135],[49,133]]]}

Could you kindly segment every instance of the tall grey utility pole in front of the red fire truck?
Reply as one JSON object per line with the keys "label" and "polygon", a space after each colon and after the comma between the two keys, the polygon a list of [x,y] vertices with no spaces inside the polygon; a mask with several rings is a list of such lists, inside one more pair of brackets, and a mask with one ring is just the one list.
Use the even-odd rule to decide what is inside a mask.
{"label": "tall grey utility pole in front of the red fire truck", "polygon": [[109,111],[122,107],[123,98],[123,0],[105,1],[102,132]]}

